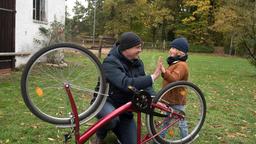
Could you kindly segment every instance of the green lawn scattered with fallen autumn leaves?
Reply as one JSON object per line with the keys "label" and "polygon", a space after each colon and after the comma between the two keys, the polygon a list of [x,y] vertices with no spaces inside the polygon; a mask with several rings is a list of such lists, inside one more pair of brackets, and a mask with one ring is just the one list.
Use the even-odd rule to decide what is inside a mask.
{"label": "green lawn scattered with fallen autumn leaves", "polygon": [[[165,59],[167,53],[142,53],[148,74],[160,55]],[[200,87],[207,102],[206,121],[195,143],[255,143],[255,67],[246,59],[206,54],[190,54],[188,63],[189,81]],[[20,75],[15,71],[0,76],[0,144],[62,143],[69,129],[56,128],[29,112],[20,94]],[[156,90],[161,82],[161,78],[156,81]],[[82,130],[86,127],[82,125]]]}

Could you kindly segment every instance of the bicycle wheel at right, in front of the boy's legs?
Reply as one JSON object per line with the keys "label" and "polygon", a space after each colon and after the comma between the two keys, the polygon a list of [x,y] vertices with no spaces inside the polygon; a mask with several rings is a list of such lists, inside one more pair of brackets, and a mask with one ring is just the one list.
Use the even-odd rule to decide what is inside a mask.
{"label": "bicycle wheel at right, in front of the boy's legs", "polygon": [[[177,105],[166,98],[166,95],[173,94],[174,91],[182,94],[186,99],[185,104]],[[153,103],[170,110],[166,112],[155,107],[155,112],[167,114],[168,117],[154,115],[146,117],[149,133],[156,135],[155,142],[181,144],[192,141],[198,136],[206,116],[206,102],[203,93],[196,85],[186,81],[171,83],[157,94]]]}

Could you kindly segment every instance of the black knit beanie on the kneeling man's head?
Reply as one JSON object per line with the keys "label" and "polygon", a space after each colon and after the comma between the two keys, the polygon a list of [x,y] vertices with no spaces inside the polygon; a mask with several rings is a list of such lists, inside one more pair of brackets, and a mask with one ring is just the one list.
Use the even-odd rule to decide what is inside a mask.
{"label": "black knit beanie on the kneeling man's head", "polygon": [[138,35],[136,35],[133,32],[125,32],[120,36],[118,42],[120,44],[119,50],[124,51],[126,49],[129,49],[141,44],[141,39]]}

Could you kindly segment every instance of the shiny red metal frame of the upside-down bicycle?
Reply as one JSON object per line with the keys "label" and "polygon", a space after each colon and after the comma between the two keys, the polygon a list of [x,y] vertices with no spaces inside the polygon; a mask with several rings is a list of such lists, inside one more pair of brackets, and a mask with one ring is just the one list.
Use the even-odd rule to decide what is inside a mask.
{"label": "shiny red metal frame of the upside-down bicycle", "polygon": [[[169,126],[167,126],[166,128],[164,128],[163,130],[161,130],[160,132],[158,132],[155,135],[150,135],[147,134],[146,136],[144,136],[144,138],[141,140],[141,112],[139,111],[135,111],[132,107],[132,102],[128,102],[124,105],[122,105],[121,107],[115,109],[113,112],[111,112],[110,114],[108,114],[107,116],[105,116],[104,118],[100,119],[99,121],[97,121],[94,125],[92,125],[88,130],[86,130],[82,135],[80,135],[80,131],[79,131],[79,117],[78,117],[78,112],[77,112],[77,107],[73,98],[73,95],[71,93],[70,90],[70,86],[69,84],[65,84],[65,90],[67,92],[67,95],[69,97],[69,101],[71,104],[71,108],[72,108],[72,115],[74,117],[74,123],[75,123],[75,140],[77,144],[83,144],[85,143],[93,134],[96,133],[96,131],[101,128],[104,124],[106,124],[107,122],[109,122],[111,119],[113,119],[114,117],[122,114],[123,112],[127,112],[127,111],[133,111],[137,113],[137,144],[143,144],[146,143],[150,140],[152,140],[155,136],[157,136],[159,133],[161,133],[163,130],[167,129],[168,127],[172,126],[173,124],[175,124],[180,118],[183,118],[182,115],[179,114],[175,114],[176,116],[178,116],[179,118],[176,119],[174,122],[172,122]],[[171,112],[169,109],[160,106],[160,105],[156,105],[153,104],[153,106],[163,109],[165,111]]]}

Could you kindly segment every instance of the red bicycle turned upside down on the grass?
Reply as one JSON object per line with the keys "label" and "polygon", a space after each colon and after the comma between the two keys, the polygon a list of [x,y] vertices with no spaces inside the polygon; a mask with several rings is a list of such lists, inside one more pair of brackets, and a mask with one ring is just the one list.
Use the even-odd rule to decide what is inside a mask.
{"label": "red bicycle turned upside down on the grass", "polygon": [[[98,85],[98,89],[95,87]],[[185,110],[172,107],[163,96],[172,90],[186,90]],[[55,44],[39,50],[28,61],[21,78],[23,100],[41,120],[74,129],[75,141],[85,143],[100,127],[126,111],[136,112],[137,143],[187,143],[203,126],[206,102],[191,82],[178,81],[151,97],[143,90],[129,88],[133,100],[100,119],[80,134],[79,126],[91,120],[107,99],[108,84],[98,58],[88,49],[72,44]],[[96,97],[94,101],[91,99]],[[141,113],[146,114],[148,134],[141,136]],[[187,121],[188,135],[181,137],[180,122]],[[164,124],[168,121],[168,124]],[[163,135],[164,131],[167,134]]]}

